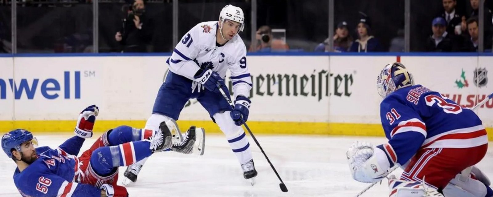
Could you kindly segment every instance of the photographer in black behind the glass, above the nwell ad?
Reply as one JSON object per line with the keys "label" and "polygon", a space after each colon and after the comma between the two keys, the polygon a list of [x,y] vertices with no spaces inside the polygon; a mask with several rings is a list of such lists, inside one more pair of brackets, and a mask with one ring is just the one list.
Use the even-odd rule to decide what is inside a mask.
{"label": "photographer in black behind the glass, above the nwell ad", "polygon": [[154,34],[154,24],[145,15],[143,0],[134,0],[129,7],[126,18],[122,20],[120,32],[115,34],[115,40],[122,47],[122,52],[150,52],[147,45],[150,44]]}

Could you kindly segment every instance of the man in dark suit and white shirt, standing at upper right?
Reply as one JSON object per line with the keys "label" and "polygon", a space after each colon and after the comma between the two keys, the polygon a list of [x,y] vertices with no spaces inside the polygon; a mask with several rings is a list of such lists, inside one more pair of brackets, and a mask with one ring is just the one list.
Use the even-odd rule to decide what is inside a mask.
{"label": "man in dark suit and white shirt, standing at upper right", "polygon": [[[466,30],[465,15],[456,9],[457,0],[442,0],[444,11],[439,15],[447,21],[447,33],[460,35]],[[459,31],[460,30],[460,31]]]}

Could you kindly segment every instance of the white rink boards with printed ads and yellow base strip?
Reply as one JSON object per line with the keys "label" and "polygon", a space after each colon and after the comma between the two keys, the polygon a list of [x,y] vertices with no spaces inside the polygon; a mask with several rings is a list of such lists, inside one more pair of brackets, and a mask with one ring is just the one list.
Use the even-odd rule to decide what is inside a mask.
{"label": "white rink boards with printed ads and yellow base strip", "polygon": [[[0,58],[0,131],[73,131],[77,113],[97,104],[96,129],[141,128],[167,56]],[[493,56],[403,56],[417,83],[472,107],[493,92]],[[383,135],[376,79],[396,56],[248,56],[255,133]],[[229,77],[229,75],[228,75]],[[228,79],[228,84],[231,83]],[[493,131],[493,100],[477,110]],[[196,100],[178,124],[219,132]],[[490,135],[493,140],[493,135]]]}

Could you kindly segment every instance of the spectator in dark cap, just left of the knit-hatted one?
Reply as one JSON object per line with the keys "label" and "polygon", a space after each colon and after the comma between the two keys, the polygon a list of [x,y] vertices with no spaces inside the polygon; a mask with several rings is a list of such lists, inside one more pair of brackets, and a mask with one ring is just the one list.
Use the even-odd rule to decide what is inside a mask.
{"label": "spectator in dark cap, just left of the knit-hatted one", "polygon": [[[334,42],[333,50],[329,49],[329,42]],[[316,52],[348,52],[352,45],[352,36],[349,34],[348,23],[340,22],[332,39],[327,38],[315,48]]]}

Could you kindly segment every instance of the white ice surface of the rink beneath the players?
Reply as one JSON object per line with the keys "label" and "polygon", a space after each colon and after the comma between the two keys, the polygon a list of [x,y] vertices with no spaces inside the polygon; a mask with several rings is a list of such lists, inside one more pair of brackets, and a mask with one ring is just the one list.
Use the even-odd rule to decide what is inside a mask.
{"label": "white ice surface of the rink beneath the players", "polygon": [[[70,135],[37,135],[40,146],[52,148]],[[86,140],[86,150],[96,137]],[[256,184],[243,179],[240,164],[225,137],[206,137],[204,156],[164,152],[153,155],[142,168],[138,181],[128,187],[130,197],[353,197],[368,184],[352,180],[346,151],[353,141],[374,144],[386,142],[381,137],[282,136],[258,135],[262,148],[278,170],[289,192],[282,193],[271,167],[249,137],[255,167]],[[477,166],[493,178],[492,143],[486,157]],[[81,151],[82,152],[82,151]],[[18,197],[12,175],[14,162],[3,153],[0,159],[0,196]],[[125,167],[120,167],[120,177]],[[393,174],[400,175],[396,170]],[[121,181],[121,178],[120,178]],[[387,183],[377,185],[362,197],[386,197]]]}

